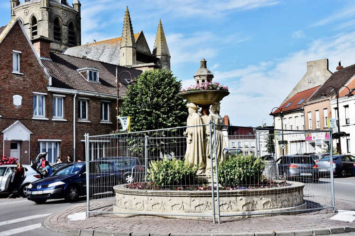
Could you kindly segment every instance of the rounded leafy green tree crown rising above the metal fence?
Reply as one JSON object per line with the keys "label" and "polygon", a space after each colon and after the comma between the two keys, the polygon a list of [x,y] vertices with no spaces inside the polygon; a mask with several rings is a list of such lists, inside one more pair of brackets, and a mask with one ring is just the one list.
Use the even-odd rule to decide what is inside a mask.
{"label": "rounded leafy green tree crown rising above the metal fence", "polygon": [[121,116],[131,117],[131,131],[157,130],[186,125],[186,101],[178,94],[181,81],[167,69],[144,71],[128,86]]}

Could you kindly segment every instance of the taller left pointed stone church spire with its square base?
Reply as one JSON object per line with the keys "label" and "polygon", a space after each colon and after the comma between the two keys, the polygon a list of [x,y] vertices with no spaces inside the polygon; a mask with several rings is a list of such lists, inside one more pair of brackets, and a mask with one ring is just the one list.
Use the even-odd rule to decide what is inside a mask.
{"label": "taller left pointed stone church spire with its square base", "polygon": [[124,14],[124,23],[120,45],[120,66],[131,67],[136,65],[137,45],[133,34],[131,17],[129,16],[128,7]]}

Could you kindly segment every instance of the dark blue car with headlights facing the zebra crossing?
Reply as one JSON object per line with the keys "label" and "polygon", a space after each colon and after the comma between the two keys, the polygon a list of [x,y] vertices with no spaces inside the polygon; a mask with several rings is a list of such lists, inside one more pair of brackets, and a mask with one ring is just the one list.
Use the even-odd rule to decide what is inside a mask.
{"label": "dark blue car with headlights facing the zebra crossing", "polygon": [[[113,161],[90,161],[90,197],[96,193],[113,192],[113,186],[123,183],[123,174]],[[87,195],[86,164],[76,162],[57,169],[51,176],[28,185],[27,199],[38,204],[48,199],[74,202]]]}

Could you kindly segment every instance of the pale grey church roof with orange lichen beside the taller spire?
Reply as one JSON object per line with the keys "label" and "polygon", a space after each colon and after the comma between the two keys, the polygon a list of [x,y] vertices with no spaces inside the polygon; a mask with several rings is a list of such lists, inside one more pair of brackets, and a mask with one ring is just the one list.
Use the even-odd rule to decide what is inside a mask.
{"label": "pale grey church roof with orange lichen beside the taller spire", "polygon": [[[137,41],[140,33],[134,34]],[[95,43],[88,43],[76,47],[71,47],[63,53],[71,56],[87,56],[95,61],[106,62],[114,65],[120,64],[120,45],[121,37],[107,39]]]}

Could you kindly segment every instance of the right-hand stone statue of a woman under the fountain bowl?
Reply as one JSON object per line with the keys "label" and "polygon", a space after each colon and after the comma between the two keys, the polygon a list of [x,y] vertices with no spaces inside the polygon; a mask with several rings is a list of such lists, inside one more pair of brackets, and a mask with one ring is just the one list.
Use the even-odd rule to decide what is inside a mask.
{"label": "right-hand stone statue of a woman under the fountain bowl", "polygon": [[[207,155],[206,155],[206,173],[211,173],[211,158],[213,160],[213,167],[221,161],[223,161],[226,152],[226,142],[224,141],[224,136],[222,133],[222,118],[219,115],[219,111],[221,109],[220,102],[213,102],[211,106],[211,113],[208,116],[209,121],[214,121],[215,123],[215,130],[210,134],[210,129],[206,129],[207,135]],[[212,154],[210,148],[210,136],[212,137]],[[216,139],[216,143],[214,145],[214,138]],[[215,155],[215,151],[217,150],[217,156]]]}

